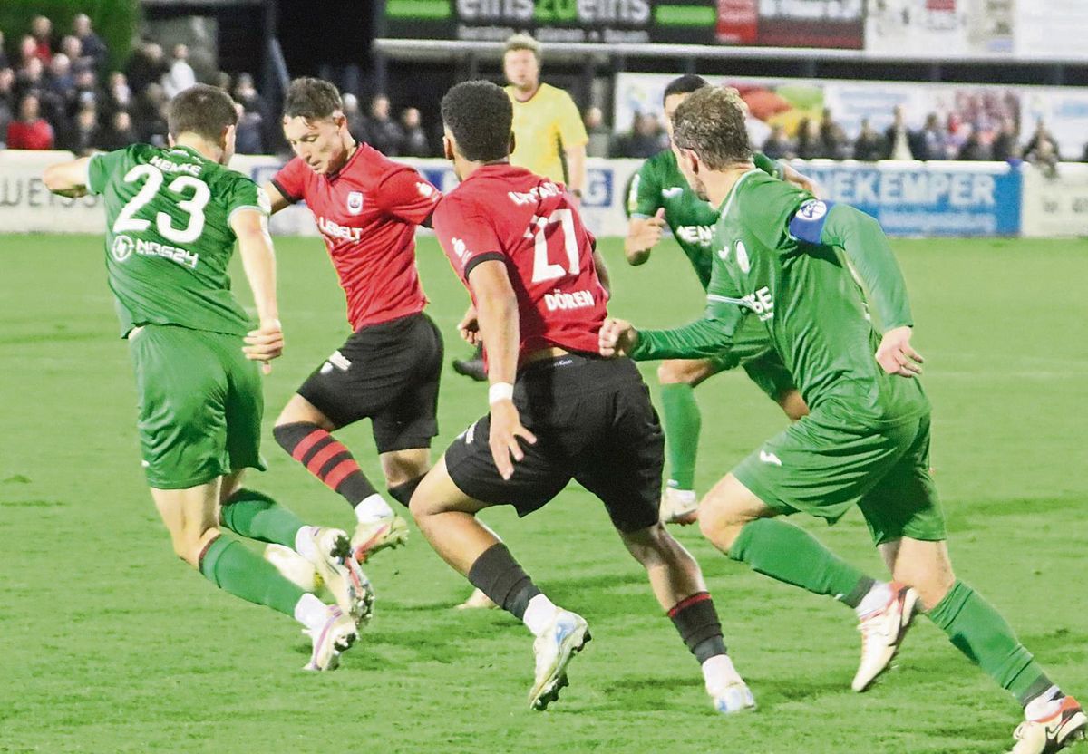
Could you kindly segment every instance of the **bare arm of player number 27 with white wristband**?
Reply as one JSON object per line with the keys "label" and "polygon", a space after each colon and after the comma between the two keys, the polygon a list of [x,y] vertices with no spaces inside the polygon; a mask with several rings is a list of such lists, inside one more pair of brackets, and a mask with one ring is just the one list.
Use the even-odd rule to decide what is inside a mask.
{"label": "bare arm of player number 27 with white wristband", "polygon": [[535,435],[521,425],[521,416],[514,405],[520,341],[518,299],[510,285],[506,262],[497,259],[473,267],[468,283],[475,301],[480,336],[487,349],[491,455],[503,479],[509,479],[514,474],[514,462],[526,457],[519,438],[530,444],[536,442]]}

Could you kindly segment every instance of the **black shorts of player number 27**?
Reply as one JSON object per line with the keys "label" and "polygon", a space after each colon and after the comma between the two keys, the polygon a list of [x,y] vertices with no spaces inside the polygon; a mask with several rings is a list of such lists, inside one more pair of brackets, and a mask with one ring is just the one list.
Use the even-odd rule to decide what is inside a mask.
{"label": "black shorts of player number 27", "polygon": [[564,356],[518,374],[514,404],[536,435],[504,480],[491,456],[491,417],[446,450],[446,469],[466,495],[509,504],[526,516],[571,479],[601,498],[620,531],[657,523],[665,438],[650,391],[629,359]]}

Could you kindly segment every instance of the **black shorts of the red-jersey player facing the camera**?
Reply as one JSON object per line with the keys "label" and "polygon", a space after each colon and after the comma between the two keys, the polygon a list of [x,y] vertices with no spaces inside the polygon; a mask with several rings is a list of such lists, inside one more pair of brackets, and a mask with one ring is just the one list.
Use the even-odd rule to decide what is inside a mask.
{"label": "black shorts of the red-jersey player facing the camera", "polygon": [[298,394],[336,428],[369,418],[379,453],[431,447],[442,359],[434,322],[409,314],[351,333]]}

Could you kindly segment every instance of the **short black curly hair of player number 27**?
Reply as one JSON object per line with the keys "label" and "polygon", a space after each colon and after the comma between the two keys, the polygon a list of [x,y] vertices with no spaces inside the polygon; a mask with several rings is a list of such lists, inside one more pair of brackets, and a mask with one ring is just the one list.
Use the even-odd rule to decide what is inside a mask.
{"label": "short black curly hair of player number 27", "polygon": [[442,98],[442,122],[466,160],[490,162],[510,153],[514,106],[491,82],[461,82]]}

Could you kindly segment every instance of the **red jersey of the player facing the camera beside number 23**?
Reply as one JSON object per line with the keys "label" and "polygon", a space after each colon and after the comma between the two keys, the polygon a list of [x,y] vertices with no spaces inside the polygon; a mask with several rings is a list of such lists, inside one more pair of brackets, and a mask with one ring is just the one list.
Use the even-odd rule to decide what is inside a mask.
{"label": "red jersey of the player facing the camera beside number 23", "polygon": [[304,199],[313,212],[347,296],[353,330],[423,310],[416,226],[442,196],[426,178],[360,144],[332,175],[314,173],[296,157],[272,183],[285,199]]}

